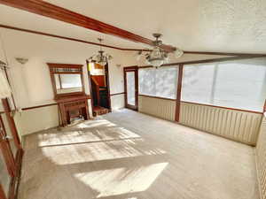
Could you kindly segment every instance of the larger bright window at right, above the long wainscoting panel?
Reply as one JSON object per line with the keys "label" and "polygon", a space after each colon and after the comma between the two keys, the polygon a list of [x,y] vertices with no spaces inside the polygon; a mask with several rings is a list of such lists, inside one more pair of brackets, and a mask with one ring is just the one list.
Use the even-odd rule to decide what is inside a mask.
{"label": "larger bright window at right, above the long wainscoting panel", "polygon": [[184,65],[182,101],[262,111],[266,58]]}

